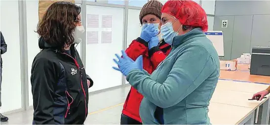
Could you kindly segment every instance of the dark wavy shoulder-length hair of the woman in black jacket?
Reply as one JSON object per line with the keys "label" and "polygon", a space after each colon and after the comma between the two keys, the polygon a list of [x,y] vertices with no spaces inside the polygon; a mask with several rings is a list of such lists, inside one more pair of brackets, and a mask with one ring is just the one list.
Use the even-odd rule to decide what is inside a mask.
{"label": "dark wavy shoulder-length hair of the woman in black jacket", "polygon": [[51,46],[63,49],[74,42],[73,33],[79,22],[81,8],[74,3],[58,1],[51,4],[37,27],[39,37]]}

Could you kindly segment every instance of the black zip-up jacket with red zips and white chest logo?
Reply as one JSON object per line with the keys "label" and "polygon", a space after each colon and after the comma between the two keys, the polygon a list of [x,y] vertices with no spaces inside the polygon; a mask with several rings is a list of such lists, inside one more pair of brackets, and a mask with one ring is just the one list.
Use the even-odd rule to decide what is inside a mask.
{"label": "black zip-up jacket with red zips and white chest logo", "polygon": [[88,114],[88,87],[93,81],[85,74],[74,44],[71,55],[39,39],[42,49],[31,70],[33,124],[82,125]]}

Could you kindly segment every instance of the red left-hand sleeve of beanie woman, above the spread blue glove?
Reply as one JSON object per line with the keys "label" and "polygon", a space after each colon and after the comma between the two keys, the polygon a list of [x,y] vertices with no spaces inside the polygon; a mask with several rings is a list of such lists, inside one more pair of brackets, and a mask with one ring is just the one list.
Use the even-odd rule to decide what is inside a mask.
{"label": "red left-hand sleeve of beanie woman, above the spread blue glove", "polygon": [[140,55],[148,53],[148,42],[141,38],[137,38],[131,42],[125,52],[132,60],[136,60]]}

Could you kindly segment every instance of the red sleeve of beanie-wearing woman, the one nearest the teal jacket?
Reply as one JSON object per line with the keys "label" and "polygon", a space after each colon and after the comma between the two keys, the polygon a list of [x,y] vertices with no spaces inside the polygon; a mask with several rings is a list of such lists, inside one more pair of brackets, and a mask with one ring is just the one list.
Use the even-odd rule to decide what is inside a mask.
{"label": "red sleeve of beanie-wearing woman, the one nearest the teal jacket", "polygon": [[151,48],[148,53],[150,60],[153,64],[153,69],[155,69],[158,64],[166,58],[165,53],[163,53],[157,46]]}

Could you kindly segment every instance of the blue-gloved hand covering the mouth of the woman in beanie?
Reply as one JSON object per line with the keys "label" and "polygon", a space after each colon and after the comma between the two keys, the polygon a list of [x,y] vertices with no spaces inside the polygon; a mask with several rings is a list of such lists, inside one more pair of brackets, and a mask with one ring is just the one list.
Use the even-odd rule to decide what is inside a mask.
{"label": "blue-gloved hand covering the mouth of the woman in beanie", "polygon": [[158,32],[159,31],[156,27],[154,27],[154,24],[146,24],[143,27],[140,38],[146,42],[149,42],[151,38],[158,34]]}

